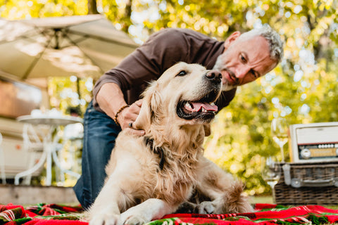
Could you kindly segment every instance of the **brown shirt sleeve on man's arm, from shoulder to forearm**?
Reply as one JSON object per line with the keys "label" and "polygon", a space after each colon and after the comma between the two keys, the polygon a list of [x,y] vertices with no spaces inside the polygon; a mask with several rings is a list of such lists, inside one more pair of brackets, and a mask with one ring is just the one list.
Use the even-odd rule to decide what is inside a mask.
{"label": "brown shirt sleeve on man's arm, from shoulder to forearm", "polygon": [[131,104],[139,99],[151,80],[158,79],[175,63],[186,61],[187,52],[187,40],[177,29],[168,28],[152,34],[146,43],[97,80],[93,89],[94,107],[103,110],[96,101],[96,95],[106,83],[118,84],[123,94],[127,94],[124,96],[125,101]]}

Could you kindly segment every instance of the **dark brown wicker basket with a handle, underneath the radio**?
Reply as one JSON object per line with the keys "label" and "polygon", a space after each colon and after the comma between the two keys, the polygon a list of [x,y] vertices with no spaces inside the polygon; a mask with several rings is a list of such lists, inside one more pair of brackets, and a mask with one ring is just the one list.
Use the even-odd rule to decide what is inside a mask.
{"label": "dark brown wicker basket with a handle, underneath the radio", "polygon": [[275,186],[277,204],[338,204],[337,162],[287,163],[286,165],[289,165],[289,169],[282,164],[282,167],[284,166],[282,176]]}

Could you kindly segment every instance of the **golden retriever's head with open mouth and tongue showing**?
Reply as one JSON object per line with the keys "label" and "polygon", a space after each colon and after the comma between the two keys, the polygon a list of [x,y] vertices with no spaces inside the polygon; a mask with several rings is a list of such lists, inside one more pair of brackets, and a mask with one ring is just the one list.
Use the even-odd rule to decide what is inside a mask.
{"label": "golden retriever's head with open mouth and tongue showing", "polygon": [[135,121],[147,131],[154,125],[205,124],[217,112],[213,104],[222,89],[222,75],[198,64],[177,63],[144,91],[142,108]]}

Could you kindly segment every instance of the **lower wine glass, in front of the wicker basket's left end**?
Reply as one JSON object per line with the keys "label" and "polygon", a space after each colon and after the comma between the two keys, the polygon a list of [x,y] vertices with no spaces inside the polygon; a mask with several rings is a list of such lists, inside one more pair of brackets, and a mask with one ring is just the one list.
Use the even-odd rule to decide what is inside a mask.
{"label": "lower wine glass, in front of the wicker basket's left end", "polygon": [[261,175],[263,180],[270,185],[271,189],[273,190],[273,202],[275,203],[275,185],[280,180],[280,164],[277,162],[275,157],[268,156],[265,158],[262,164]]}

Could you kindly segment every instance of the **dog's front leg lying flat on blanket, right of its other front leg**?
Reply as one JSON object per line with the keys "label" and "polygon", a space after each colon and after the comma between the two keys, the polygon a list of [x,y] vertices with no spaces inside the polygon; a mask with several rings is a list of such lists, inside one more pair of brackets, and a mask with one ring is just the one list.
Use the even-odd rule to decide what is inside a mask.
{"label": "dog's front leg lying flat on blanket, right of its other front leg", "polygon": [[143,203],[131,207],[121,214],[120,220],[123,224],[139,225],[154,219],[161,219],[165,214],[174,212],[177,205],[170,205],[164,200],[149,198]]}

